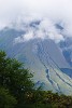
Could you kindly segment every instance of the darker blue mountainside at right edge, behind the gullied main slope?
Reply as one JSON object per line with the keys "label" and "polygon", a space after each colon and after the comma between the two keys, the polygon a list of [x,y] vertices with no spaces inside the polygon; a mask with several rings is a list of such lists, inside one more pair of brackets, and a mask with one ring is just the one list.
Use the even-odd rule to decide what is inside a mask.
{"label": "darker blue mountainside at right edge, behind the gullied main slope", "polygon": [[[68,64],[72,67],[72,38],[64,38],[64,41],[59,42],[59,48],[68,62]],[[61,68],[62,71],[66,71],[72,78],[72,69],[70,68]]]}

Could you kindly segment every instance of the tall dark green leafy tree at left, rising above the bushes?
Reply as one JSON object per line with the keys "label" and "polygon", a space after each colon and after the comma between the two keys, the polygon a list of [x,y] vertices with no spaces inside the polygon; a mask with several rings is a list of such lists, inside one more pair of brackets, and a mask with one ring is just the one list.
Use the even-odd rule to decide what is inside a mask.
{"label": "tall dark green leafy tree at left, rising above the bushes", "polygon": [[[32,75],[29,73],[28,69],[24,68],[20,62],[6,57],[5,52],[0,51],[0,93],[3,90],[0,97],[2,94],[4,95],[3,102],[4,99],[9,102],[10,98],[12,102],[12,96],[14,96],[17,103],[25,103],[25,99],[23,99],[25,98],[25,93],[32,91],[33,87],[31,77]],[[6,104],[6,102],[4,103]]]}

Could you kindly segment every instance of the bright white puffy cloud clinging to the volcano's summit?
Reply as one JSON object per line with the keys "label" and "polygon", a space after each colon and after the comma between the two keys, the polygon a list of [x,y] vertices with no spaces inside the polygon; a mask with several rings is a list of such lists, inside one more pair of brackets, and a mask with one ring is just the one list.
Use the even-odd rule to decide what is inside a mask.
{"label": "bright white puffy cloud clinging to the volcano's summit", "polygon": [[52,39],[56,42],[60,40],[64,40],[61,31],[58,30],[53,22],[48,18],[44,18],[42,21],[30,21],[29,24],[25,23],[25,33],[15,38],[14,43],[23,43],[25,41],[29,41],[32,39]]}

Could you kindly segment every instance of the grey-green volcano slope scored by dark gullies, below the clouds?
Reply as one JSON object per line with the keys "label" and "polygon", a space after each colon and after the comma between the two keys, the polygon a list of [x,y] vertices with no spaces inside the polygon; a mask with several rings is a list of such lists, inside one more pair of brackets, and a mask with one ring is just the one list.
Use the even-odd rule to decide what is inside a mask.
{"label": "grey-green volcano slope scored by dark gullies, below the clouds", "polygon": [[33,73],[35,86],[44,90],[72,95],[72,78],[62,69],[71,69],[60,50],[60,45],[51,39],[32,39],[15,42],[15,39],[26,33],[25,30],[5,28],[0,31],[0,50],[4,50],[10,57],[25,63]]}

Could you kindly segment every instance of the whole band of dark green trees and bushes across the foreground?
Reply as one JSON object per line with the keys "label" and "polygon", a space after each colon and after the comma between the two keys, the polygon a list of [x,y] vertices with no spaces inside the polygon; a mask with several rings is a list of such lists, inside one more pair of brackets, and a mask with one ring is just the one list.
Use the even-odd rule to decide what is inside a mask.
{"label": "whole band of dark green trees and bushes across the foreground", "polygon": [[72,108],[72,96],[34,90],[32,75],[0,51],[0,108]]}

